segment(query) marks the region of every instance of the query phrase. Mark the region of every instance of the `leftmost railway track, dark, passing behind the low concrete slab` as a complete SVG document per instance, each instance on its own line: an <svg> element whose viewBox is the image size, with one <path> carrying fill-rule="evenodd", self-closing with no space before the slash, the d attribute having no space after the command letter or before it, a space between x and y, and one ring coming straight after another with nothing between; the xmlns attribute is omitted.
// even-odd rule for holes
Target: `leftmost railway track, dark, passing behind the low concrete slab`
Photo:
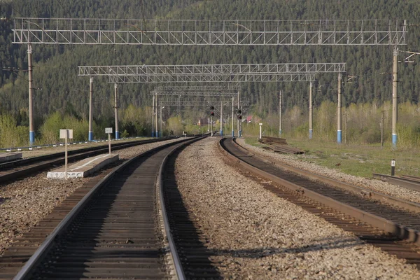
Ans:
<svg viewBox="0 0 420 280"><path fill-rule="evenodd" d="M132 146L144 145L163 141L167 139L150 139L141 141L130 141L128 143L112 144L113 151L123 148L130 148ZM82 148L68 152L69 162L82 160L84 158L92 157L102 153L108 153L108 145L101 145L96 147ZM25 176L30 176L36 172L41 172L50 169L52 166L64 164L64 152L53 153L50 155L41 155L34 158L26 158L22 160L13 160L11 162L3 162L0 164L0 186L3 183L10 183Z"/></svg>

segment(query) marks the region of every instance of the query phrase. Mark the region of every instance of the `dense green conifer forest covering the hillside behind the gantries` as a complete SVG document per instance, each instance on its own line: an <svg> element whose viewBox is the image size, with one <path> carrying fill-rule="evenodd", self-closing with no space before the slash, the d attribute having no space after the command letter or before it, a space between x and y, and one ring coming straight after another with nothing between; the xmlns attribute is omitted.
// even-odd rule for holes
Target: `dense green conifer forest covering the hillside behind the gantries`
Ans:
<svg viewBox="0 0 420 280"><path fill-rule="evenodd" d="M16 125L28 125L27 46L13 45L13 18L120 18L120 19L398 19L409 23L408 45L400 50L419 51L420 5L417 0L0 0L0 111L13 115ZM34 117L36 129L53 113L82 120L88 114L88 78L77 76L78 65L116 64L242 64L286 62L346 62L346 71L357 78L343 78L343 106L384 104L391 101L391 46L158 46L158 45L33 45ZM400 54L399 102L418 104L420 66L405 64ZM420 57L419 57L420 59ZM13 70L13 71L10 71ZM314 106L337 101L337 76L319 75ZM251 101L250 113L260 118L278 109L275 93L283 91L283 110L294 106L307 114L308 83L244 83L241 93ZM120 85L120 108L130 104L151 106L148 94L155 85ZM183 111L196 119L204 108ZM174 116L169 111L169 116ZM168 117L169 117L168 116ZM205 115L204 115L205 116ZM113 85L94 80L94 120L112 122Z"/></svg>

